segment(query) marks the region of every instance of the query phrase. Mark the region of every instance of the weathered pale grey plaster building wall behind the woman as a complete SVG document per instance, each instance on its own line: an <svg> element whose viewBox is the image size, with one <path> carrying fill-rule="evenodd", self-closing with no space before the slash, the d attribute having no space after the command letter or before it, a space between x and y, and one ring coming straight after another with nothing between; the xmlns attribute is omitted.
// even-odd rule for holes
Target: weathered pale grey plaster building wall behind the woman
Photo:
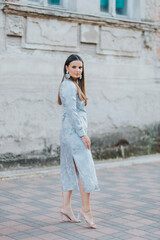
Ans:
<svg viewBox="0 0 160 240"><path fill-rule="evenodd" d="M98 0L92 7L71 3L70 11L0 4L2 160L56 154L57 92L71 53L85 62L90 137L121 133L132 140L135 130L160 123L159 2L139 1L135 19L105 16Z"/></svg>

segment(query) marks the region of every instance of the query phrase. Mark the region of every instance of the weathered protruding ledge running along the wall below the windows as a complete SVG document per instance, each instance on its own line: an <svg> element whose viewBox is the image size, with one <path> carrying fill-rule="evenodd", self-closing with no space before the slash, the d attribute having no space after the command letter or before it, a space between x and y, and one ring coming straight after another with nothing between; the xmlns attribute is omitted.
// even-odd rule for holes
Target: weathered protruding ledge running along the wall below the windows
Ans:
<svg viewBox="0 0 160 240"><path fill-rule="evenodd" d="M64 8L51 8L38 5L25 5L20 3L1 2L0 8L6 14L14 14L19 16L41 16L42 18L58 18L67 19L67 21L75 21L79 23L90 23L100 26L115 25L117 27L135 28L145 31L159 31L160 24L158 22L137 21L133 19L123 19L118 17L104 17L96 14L85 14L83 12L68 11Z"/></svg>

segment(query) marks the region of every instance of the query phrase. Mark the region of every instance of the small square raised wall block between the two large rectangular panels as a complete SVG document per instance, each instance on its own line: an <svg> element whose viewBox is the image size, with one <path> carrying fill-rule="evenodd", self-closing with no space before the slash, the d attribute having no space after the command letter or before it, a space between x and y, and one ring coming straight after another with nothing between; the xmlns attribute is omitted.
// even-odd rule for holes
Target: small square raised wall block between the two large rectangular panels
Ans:
<svg viewBox="0 0 160 240"><path fill-rule="evenodd" d="M89 24L81 24L81 42L98 43L99 27Z"/></svg>

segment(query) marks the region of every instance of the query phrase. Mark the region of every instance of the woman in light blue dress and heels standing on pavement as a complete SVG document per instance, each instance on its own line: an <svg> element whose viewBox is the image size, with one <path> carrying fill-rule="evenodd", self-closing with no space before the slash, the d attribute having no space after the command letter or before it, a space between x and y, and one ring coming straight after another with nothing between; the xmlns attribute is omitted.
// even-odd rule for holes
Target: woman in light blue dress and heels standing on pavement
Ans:
<svg viewBox="0 0 160 240"><path fill-rule="evenodd" d="M99 191L94 162L87 136L84 63L78 55L70 55L64 64L64 77L58 92L58 104L63 106L60 132L60 175L63 206L62 217L80 222L83 217L91 228L96 228L90 207L90 193ZM71 207L73 190L80 190L82 208L78 219Z"/></svg>

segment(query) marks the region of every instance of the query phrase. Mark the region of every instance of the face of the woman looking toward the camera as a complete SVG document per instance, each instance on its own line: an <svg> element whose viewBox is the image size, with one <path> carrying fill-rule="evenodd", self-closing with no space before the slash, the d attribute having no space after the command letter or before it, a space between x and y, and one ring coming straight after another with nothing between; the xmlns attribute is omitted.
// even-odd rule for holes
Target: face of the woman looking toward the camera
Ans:
<svg viewBox="0 0 160 240"><path fill-rule="evenodd" d="M77 80L82 74L82 62L79 60L72 61L69 66L66 66L67 71L69 72L70 76Z"/></svg>

